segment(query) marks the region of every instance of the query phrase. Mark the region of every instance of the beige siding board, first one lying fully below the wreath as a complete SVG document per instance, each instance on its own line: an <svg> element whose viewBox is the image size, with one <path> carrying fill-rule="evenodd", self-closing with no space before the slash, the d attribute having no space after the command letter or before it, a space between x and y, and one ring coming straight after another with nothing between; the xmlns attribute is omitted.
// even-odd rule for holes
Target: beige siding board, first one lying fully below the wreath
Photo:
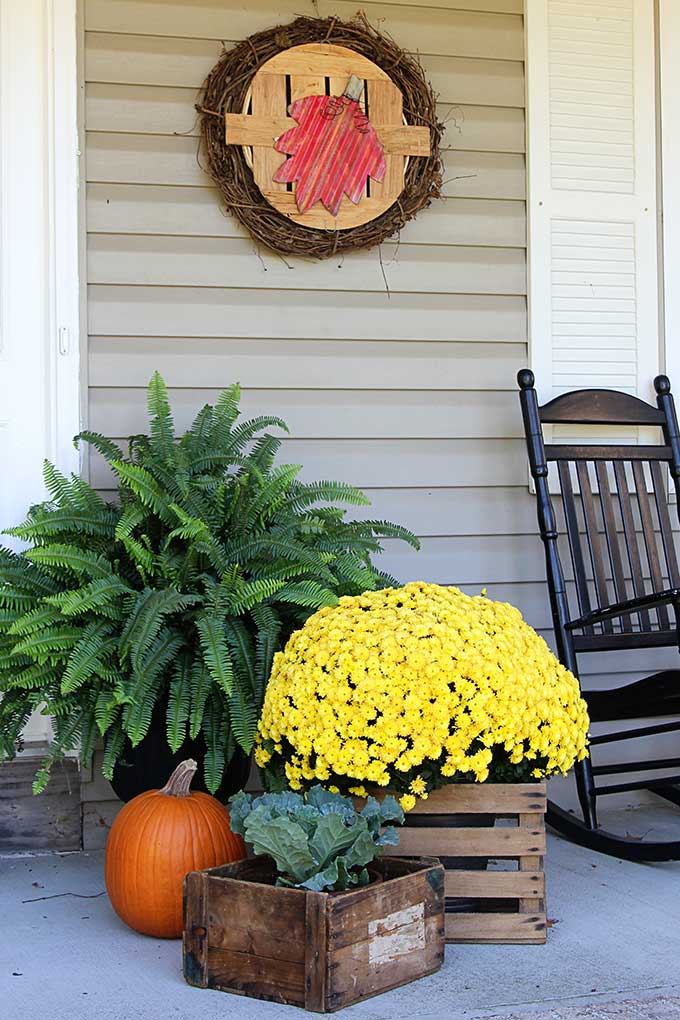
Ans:
<svg viewBox="0 0 680 1020"><path fill-rule="evenodd" d="M91 334L522 342L526 303L492 295L226 291L102 287L89 293Z"/></svg>

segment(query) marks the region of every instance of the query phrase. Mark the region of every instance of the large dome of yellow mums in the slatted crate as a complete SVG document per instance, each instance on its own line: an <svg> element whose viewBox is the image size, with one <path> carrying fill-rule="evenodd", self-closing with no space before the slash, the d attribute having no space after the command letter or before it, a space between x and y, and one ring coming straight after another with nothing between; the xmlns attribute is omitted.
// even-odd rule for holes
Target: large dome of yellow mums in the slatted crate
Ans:
<svg viewBox="0 0 680 1020"><path fill-rule="evenodd" d="M584 758L578 681L519 610L414 582L320 609L274 657L255 757L272 784L531 781Z"/></svg>

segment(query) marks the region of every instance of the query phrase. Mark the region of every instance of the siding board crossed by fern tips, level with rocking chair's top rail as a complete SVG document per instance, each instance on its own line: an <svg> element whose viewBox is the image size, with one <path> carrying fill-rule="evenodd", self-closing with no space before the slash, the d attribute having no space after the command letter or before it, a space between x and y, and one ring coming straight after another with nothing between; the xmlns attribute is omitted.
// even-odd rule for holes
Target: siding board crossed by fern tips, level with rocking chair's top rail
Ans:
<svg viewBox="0 0 680 1020"><path fill-rule="evenodd" d="M170 390L177 431L219 389ZM437 391L245 390L242 414L278 414L297 439L518 439L519 401L512 393ZM106 436L146 431L146 389L92 389L90 427ZM453 522L452 522L453 523Z"/></svg>

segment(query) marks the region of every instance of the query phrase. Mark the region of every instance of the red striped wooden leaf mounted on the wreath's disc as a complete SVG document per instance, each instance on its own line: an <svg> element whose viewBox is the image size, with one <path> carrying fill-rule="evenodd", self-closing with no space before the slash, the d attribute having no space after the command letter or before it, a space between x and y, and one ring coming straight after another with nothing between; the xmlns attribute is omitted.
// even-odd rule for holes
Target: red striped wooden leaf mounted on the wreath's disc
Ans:
<svg viewBox="0 0 680 1020"><path fill-rule="evenodd" d="M382 181L382 143L359 103L347 96L305 96L289 112L299 126L276 141L276 150L291 158L278 168L274 181L296 182L301 212L323 202L335 216L343 195L357 205L366 194L369 176Z"/></svg>

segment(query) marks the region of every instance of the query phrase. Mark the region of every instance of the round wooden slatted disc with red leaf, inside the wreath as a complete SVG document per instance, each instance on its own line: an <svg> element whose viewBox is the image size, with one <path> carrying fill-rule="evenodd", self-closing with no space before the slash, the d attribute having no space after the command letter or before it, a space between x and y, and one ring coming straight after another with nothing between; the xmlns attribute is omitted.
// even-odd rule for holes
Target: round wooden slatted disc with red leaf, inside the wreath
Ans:
<svg viewBox="0 0 680 1020"><path fill-rule="evenodd" d="M338 96L348 79L356 91ZM322 94L326 81L332 96ZM364 92L368 117L357 102ZM407 158L430 152L429 128L406 123L402 93L386 71L330 43L292 46L265 61L242 112L227 113L224 129L227 145L251 152L255 184L270 205L323 231L382 215L404 189Z"/></svg>

